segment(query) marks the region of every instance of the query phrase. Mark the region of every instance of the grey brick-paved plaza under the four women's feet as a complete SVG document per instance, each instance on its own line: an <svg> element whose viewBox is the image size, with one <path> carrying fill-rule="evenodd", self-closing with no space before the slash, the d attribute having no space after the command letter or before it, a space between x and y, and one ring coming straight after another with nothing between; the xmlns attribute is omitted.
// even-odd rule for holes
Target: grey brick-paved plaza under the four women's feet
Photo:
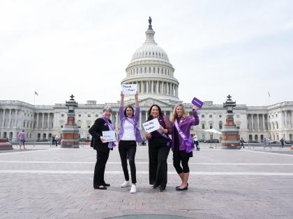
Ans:
<svg viewBox="0 0 293 219"><path fill-rule="evenodd" d="M110 152L107 190L94 190L96 153L87 147L29 146L0 153L0 218L110 218L158 214L188 218L293 218L293 154L289 149L202 147L190 159L188 190L168 159L164 193L148 184L148 150L137 149L138 192L120 188L117 149ZM142 217L143 218L143 217Z"/></svg>

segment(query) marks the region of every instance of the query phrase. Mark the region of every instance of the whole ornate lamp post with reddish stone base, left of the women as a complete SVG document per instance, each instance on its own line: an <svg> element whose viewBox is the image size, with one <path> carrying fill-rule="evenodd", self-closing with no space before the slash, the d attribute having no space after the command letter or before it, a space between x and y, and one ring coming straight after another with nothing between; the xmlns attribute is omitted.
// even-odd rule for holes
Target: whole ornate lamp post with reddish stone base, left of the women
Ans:
<svg viewBox="0 0 293 219"><path fill-rule="evenodd" d="M80 136L78 134L78 127L75 122L75 108L77 107L77 102L73 99L73 95L70 96L71 99L66 102L68 106L67 122L62 129L62 140L61 147L63 148L79 148L80 147Z"/></svg>

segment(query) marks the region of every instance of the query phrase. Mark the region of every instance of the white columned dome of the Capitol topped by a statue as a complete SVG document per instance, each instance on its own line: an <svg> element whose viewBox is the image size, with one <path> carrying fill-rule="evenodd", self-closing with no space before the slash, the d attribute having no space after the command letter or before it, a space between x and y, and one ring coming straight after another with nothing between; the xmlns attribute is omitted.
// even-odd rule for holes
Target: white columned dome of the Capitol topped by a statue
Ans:
<svg viewBox="0 0 293 219"><path fill-rule="evenodd" d="M174 78L175 70L167 53L154 40L155 33L149 17L146 41L133 54L121 84L137 84L140 99L151 97L174 104L180 102L179 82ZM133 101L133 96L126 95L126 101Z"/></svg>

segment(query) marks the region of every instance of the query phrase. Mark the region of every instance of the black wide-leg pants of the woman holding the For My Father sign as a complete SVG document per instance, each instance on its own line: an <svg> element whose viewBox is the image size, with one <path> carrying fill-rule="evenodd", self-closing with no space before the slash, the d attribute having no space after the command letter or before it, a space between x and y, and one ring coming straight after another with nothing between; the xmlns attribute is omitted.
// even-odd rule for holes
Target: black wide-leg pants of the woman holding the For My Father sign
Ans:
<svg viewBox="0 0 293 219"><path fill-rule="evenodd" d="M170 147L165 138L149 140L149 184L167 185L167 157Z"/></svg>

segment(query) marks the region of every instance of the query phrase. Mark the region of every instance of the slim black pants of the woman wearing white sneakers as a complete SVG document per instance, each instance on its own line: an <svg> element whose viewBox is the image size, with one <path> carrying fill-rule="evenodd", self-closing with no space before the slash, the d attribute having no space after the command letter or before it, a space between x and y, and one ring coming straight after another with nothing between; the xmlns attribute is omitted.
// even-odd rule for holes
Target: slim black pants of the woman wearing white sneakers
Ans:
<svg viewBox="0 0 293 219"><path fill-rule="evenodd" d="M135 153L136 153L136 142L135 140L120 140L119 141L119 154L121 158L121 165L125 180L129 180L128 168L127 168L127 155L129 159L131 181L136 184L136 168L135 168Z"/></svg>

